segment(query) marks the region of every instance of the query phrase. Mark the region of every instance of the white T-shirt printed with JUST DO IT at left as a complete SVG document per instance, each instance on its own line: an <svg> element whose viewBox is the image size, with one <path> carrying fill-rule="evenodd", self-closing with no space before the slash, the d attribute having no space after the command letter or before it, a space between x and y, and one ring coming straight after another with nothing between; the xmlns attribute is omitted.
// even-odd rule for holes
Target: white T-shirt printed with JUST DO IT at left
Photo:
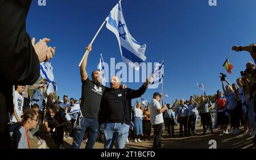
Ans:
<svg viewBox="0 0 256 160"><path fill-rule="evenodd" d="M20 116L23 115L23 102L24 102L23 96L20 95L17 91L15 91L14 92L14 98L13 98L13 104L14 104L14 108L15 108L16 113L17 113L20 120L21 120ZM13 115L13 119L11 121L17 122L14 115Z"/></svg>

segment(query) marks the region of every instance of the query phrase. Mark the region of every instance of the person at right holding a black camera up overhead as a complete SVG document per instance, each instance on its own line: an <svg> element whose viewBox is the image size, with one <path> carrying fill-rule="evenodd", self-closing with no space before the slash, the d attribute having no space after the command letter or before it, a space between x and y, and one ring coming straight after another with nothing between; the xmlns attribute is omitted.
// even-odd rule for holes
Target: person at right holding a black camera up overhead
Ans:
<svg viewBox="0 0 256 160"><path fill-rule="evenodd" d="M226 87L224 87L224 82L228 83ZM234 88L236 89L236 86L234 86ZM226 79L222 81L222 89L226 97L226 106L228 106L228 109L229 109L230 128L233 127L232 134L238 134L240 133L240 130L239 130L240 121L239 121L239 108L238 108L237 100L235 98L235 92L233 90L233 87L231 87L229 81L227 81Z"/></svg>

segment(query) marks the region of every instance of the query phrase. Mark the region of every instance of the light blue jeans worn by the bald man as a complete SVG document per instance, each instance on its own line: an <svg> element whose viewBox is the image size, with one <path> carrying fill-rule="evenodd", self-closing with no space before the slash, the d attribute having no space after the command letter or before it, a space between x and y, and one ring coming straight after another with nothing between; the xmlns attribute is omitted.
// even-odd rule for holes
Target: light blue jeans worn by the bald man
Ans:
<svg viewBox="0 0 256 160"><path fill-rule="evenodd" d="M105 123L104 137L105 149L112 149L114 144L116 149L124 149L129 134L130 126L122 123Z"/></svg>

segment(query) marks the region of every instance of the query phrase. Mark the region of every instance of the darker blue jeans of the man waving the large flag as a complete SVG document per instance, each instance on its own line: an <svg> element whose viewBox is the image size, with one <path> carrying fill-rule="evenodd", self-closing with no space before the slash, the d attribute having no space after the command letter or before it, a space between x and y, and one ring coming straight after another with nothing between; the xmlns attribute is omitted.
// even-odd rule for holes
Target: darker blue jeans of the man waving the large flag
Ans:
<svg viewBox="0 0 256 160"><path fill-rule="evenodd" d="M79 117L80 115L77 116L76 125L79 124ZM80 145L82 140L84 139L84 133L86 128L89 128L89 138L85 148L93 149L93 146L98 136L98 119L91 119L88 117L84 117L84 119L82 119L80 123L81 123L81 128L79 129L76 128L74 132L74 136L73 136L74 140L72 144L73 149L80 149Z"/></svg>

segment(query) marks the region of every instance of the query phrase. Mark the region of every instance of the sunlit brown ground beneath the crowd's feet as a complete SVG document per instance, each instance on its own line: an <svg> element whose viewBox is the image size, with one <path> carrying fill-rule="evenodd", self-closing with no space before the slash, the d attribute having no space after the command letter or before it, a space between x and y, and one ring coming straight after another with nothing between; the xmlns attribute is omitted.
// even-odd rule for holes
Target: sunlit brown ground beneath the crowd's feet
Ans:
<svg viewBox="0 0 256 160"><path fill-rule="evenodd" d="M199 125L199 124L198 124ZM152 129L153 131L153 129ZM162 142L164 148L166 149L208 149L210 147L209 141L215 140L217 142L217 148L255 148L252 140L253 137L246 136L245 133L237 134L236 136L232 134L222 134L220 130L214 129L214 133L210 134L210 131L203 135L203 128L197 127L197 135L191 137L182 137L179 136L179 126L175 127L175 136L174 138L170 138L167 135L165 129L163 129ZM152 133L153 134L153 133ZM152 135L151 134L151 135ZM39 132L39 137L35 137L33 141L31 141L32 148L40 148L39 139L46 141L46 148L57 148L54 141L51 137L46 136L44 132ZM67 138L64 140L64 148L72 148L72 138ZM151 149L153 141L142 141L135 143L133 140L130 140L128 144L126 144L126 149ZM85 141L82 142L81 148L85 148ZM104 148L103 142L97 141L94 148L102 149Z"/></svg>

